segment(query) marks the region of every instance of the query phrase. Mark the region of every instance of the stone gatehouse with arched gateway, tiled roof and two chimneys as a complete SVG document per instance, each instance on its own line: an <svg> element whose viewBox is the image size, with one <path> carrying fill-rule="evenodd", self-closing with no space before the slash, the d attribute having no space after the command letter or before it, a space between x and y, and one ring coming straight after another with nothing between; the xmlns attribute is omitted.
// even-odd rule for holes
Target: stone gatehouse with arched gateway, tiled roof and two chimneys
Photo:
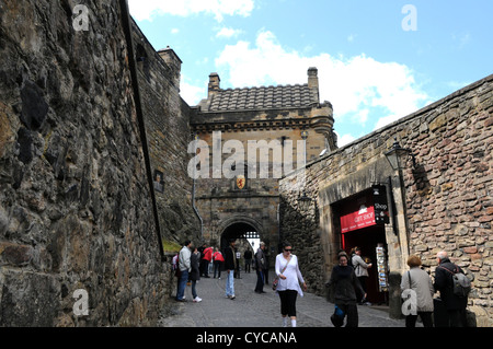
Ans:
<svg viewBox="0 0 493 349"><path fill-rule="evenodd" d="M277 252L278 179L335 149L333 123L331 104L319 101L317 68L305 84L227 90L211 73L191 118L202 141L195 200L204 240L223 246L250 233Z"/></svg>

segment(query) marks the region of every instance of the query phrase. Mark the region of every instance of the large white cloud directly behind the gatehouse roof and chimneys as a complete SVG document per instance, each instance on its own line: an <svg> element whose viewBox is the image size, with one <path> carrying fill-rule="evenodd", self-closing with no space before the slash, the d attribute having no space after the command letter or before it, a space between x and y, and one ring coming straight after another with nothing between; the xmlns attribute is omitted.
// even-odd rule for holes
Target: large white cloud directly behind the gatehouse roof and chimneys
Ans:
<svg viewBox="0 0 493 349"><path fill-rule="evenodd" d="M216 66L222 80L228 73L234 88L306 83L308 68L317 67L321 101L332 103L336 120L356 124L367 123L374 112L371 121L380 118L376 123L380 127L409 115L429 100L414 81L413 71L404 65L379 62L365 55L306 57L286 50L267 31L259 33L253 46L244 40L226 46ZM377 117L375 110L380 113Z"/></svg>

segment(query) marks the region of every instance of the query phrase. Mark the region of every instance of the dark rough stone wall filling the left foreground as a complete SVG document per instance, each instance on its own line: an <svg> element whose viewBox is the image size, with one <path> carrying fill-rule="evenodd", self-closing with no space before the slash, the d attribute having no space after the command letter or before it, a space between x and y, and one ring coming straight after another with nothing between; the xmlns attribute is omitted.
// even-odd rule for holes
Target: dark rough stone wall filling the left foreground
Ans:
<svg viewBox="0 0 493 349"><path fill-rule="evenodd" d="M153 325L163 302L118 2L0 2L0 325ZM73 314L73 292L89 315Z"/></svg>

